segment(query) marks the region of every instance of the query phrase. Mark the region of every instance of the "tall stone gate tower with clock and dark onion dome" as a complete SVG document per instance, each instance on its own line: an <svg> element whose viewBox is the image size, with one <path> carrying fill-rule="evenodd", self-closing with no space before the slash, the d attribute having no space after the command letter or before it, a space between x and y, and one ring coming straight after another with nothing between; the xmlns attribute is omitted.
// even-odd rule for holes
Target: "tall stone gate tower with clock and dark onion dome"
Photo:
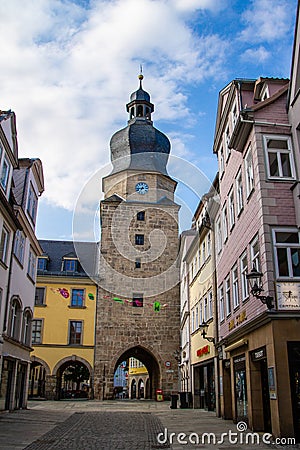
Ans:
<svg viewBox="0 0 300 450"><path fill-rule="evenodd" d="M146 396L178 390L180 345L176 181L167 173L169 139L154 128L154 105L131 94L126 128L110 142L113 170L103 179L94 391L113 395L116 368L130 357L149 372Z"/></svg>

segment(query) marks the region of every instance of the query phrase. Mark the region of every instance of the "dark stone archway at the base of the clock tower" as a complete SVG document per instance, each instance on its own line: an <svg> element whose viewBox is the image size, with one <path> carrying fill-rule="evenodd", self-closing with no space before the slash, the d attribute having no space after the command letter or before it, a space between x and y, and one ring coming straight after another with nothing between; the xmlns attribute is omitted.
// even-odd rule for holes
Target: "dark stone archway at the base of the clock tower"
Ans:
<svg viewBox="0 0 300 450"><path fill-rule="evenodd" d="M148 395L147 398L155 399L155 390L160 388L161 386L161 373L160 373L160 366L158 363L158 358L153 354L152 351L149 349L146 349L145 347L141 345L136 345L134 347L128 348L127 350L123 351L122 354L120 354L117 358L114 359L112 364L110 366L107 365L105 367L104 371L104 392L105 395L102 396L102 398L112 398L112 393L110 392L110 385L111 385L111 373L112 373L112 379L113 374L116 371L117 367L122 361L129 360L129 358L136 358L143 365L146 367L148 374L149 374L149 384L148 384ZM112 369L112 370L111 370ZM131 386L129 386L129 389ZM136 389L138 389L138 384L136 381ZM138 394L138 391L136 391Z"/></svg>

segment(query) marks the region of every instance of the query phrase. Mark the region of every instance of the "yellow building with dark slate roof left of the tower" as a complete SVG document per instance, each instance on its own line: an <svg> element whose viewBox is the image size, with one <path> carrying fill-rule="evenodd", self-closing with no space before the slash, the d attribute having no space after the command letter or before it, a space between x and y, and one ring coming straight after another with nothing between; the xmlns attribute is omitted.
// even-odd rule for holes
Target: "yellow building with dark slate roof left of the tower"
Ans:
<svg viewBox="0 0 300 450"><path fill-rule="evenodd" d="M78 259L73 242L41 240L40 245L29 396L92 397L97 296L89 277L93 274ZM80 245L95 262L96 244Z"/></svg>

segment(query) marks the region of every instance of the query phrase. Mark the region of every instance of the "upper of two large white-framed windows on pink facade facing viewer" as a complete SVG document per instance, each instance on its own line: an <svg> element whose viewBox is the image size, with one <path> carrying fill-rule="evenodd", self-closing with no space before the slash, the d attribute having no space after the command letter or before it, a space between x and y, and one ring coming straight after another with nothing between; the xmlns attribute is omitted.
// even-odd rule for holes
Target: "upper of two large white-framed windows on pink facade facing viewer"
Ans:
<svg viewBox="0 0 300 450"><path fill-rule="evenodd" d="M295 178L291 139L287 136L264 136L268 178Z"/></svg>

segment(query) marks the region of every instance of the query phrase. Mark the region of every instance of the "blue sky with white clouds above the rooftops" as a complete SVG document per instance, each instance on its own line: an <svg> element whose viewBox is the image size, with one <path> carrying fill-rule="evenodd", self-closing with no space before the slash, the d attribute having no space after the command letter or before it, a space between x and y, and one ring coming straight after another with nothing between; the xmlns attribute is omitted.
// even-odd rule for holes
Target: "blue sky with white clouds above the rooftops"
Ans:
<svg viewBox="0 0 300 450"><path fill-rule="evenodd" d="M43 162L38 237L72 238L77 199L107 168L110 137L127 124L140 64L154 125L173 155L212 180L218 93L234 78L289 77L296 7L296 0L1 2L0 108L17 115L19 156ZM183 194L191 214L199 195ZM189 222L186 214L183 228Z"/></svg>

